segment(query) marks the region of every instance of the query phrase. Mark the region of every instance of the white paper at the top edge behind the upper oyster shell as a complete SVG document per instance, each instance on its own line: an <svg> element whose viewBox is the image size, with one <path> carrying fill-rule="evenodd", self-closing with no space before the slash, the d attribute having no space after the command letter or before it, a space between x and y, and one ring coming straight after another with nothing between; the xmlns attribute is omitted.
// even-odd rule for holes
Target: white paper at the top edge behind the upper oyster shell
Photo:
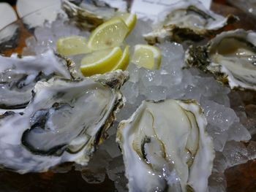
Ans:
<svg viewBox="0 0 256 192"><path fill-rule="evenodd" d="M135 13L138 18L151 19L157 18L160 12L171 4L175 4L180 0L133 0L131 12ZM211 0L200 0L203 5L210 9Z"/></svg>

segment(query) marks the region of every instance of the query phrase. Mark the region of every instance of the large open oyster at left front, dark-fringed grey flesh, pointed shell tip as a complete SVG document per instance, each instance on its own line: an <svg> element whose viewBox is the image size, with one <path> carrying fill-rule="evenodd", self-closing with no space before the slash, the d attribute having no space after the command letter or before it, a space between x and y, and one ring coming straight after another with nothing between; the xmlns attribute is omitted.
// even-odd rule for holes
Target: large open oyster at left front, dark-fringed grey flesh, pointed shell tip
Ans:
<svg viewBox="0 0 256 192"><path fill-rule="evenodd" d="M80 81L37 82L22 114L0 116L1 166L26 173L64 162L86 165L123 106L119 88L126 79L119 70Z"/></svg>

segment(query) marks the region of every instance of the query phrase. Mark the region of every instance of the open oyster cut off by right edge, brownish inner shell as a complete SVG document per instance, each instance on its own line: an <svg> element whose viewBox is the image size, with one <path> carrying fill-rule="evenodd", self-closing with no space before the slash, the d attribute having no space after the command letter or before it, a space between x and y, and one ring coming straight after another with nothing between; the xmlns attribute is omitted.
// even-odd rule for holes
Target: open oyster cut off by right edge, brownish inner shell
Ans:
<svg viewBox="0 0 256 192"><path fill-rule="evenodd" d="M186 62L208 71L230 88L256 90L256 33L227 31L205 46L189 47Z"/></svg>

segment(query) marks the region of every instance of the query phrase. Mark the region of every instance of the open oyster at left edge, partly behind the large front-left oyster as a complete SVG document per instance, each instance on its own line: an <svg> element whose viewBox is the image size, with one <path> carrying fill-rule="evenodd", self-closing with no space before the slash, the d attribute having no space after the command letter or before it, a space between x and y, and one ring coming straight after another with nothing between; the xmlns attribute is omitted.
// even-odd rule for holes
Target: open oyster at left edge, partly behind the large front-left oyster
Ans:
<svg viewBox="0 0 256 192"><path fill-rule="evenodd" d="M53 75L70 79L66 61L52 50L38 56L0 56L0 111L23 109L29 103L34 85Z"/></svg>

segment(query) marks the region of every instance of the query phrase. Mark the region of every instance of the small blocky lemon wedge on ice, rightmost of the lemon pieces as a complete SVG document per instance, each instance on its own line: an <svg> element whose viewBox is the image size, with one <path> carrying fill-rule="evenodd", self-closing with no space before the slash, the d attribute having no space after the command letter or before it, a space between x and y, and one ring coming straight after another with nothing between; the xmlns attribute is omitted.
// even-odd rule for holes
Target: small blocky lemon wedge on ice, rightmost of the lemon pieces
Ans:
<svg viewBox="0 0 256 192"><path fill-rule="evenodd" d="M159 69L161 65L161 51L151 45L135 45L135 52L132 56L132 63L146 69Z"/></svg>

